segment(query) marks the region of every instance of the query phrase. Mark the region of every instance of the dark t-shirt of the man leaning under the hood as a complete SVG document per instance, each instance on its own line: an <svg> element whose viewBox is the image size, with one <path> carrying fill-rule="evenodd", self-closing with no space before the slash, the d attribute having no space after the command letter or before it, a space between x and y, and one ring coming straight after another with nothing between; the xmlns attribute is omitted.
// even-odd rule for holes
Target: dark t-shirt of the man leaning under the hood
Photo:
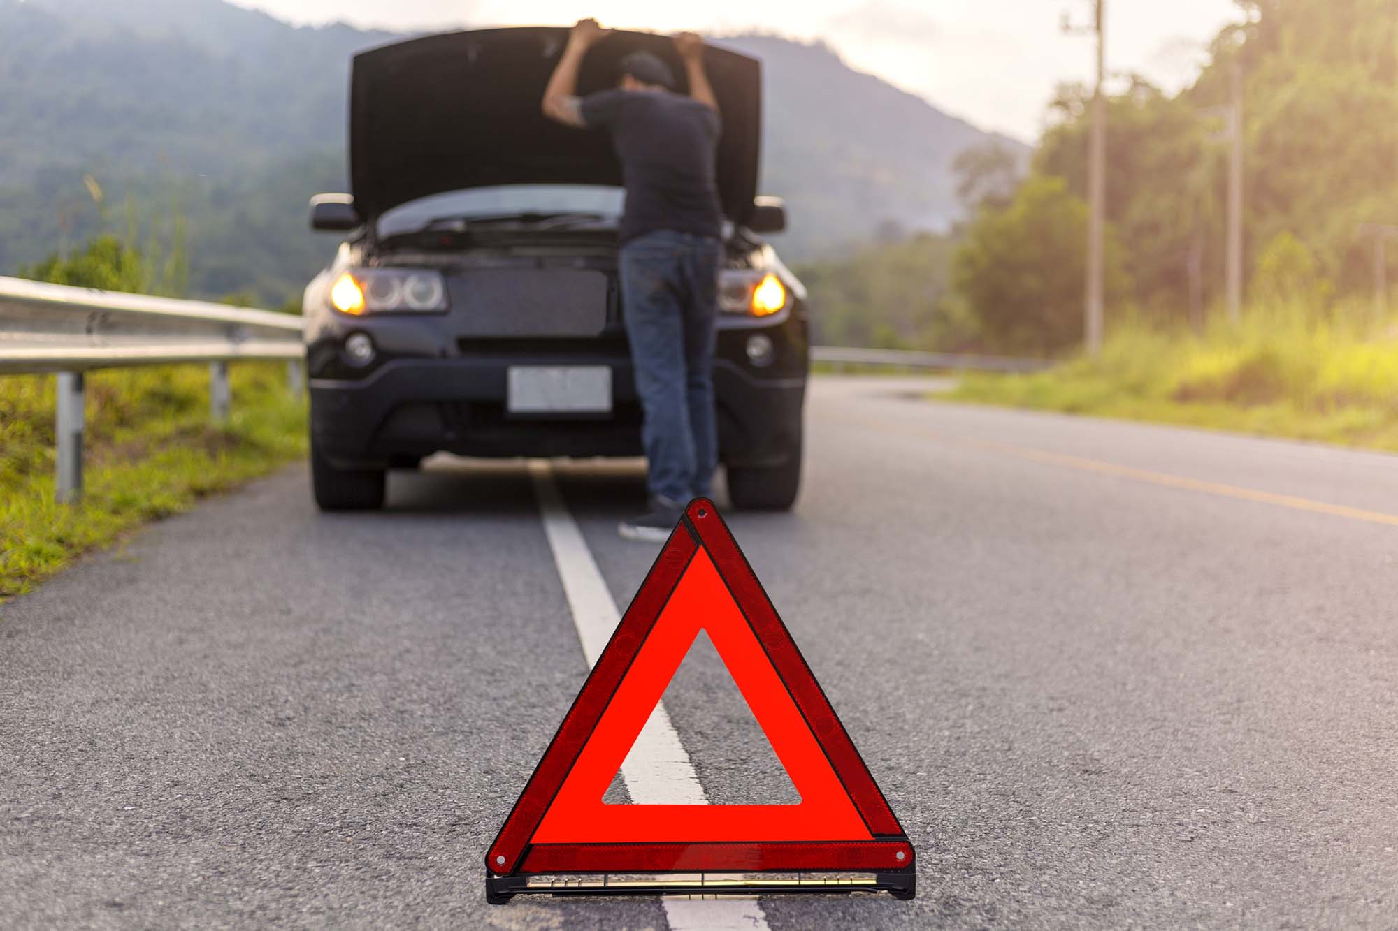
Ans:
<svg viewBox="0 0 1398 931"><path fill-rule="evenodd" d="M587 126L611 131L621 159L621 242L656 229L719 236L720 124L713 108L667 91L600 91L584 96L582 108Z"/></svg>

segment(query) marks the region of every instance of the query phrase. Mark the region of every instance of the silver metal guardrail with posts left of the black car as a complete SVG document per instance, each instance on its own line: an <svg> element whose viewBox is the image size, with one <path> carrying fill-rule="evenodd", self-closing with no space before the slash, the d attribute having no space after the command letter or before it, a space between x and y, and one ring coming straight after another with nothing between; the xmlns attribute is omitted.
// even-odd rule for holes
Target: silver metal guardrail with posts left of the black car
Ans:
<svg viewBox="0 0 1398 931"><path fill-rule="evenodd" d="M0 277L0 375L57 372L57 488L60 502L82 493L82 373L133 365L208 362L210 417L228 419L228 363L287 359L298 394L301 319L204 301L71 288Z"/></svg>

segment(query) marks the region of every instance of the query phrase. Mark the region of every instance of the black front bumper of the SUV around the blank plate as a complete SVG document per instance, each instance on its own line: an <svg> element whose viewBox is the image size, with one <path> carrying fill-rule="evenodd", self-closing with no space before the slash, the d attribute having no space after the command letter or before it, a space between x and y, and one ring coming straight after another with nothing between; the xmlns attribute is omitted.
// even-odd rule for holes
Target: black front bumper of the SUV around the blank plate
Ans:
<svg viewBox="0 0 1398 931"><path fill-rule="evenodd" d="M612 411L593 417L519 417L505 410L512 365L607 365ZM763 376L714 361L720 459L772 467L800 454L805 375ZM804 368L804 366L802 366ZM316 450L340 468L380 468L403 457L640 456L642 412L629 358L534 355L397 358L362 379L310 380Z"/></svg>

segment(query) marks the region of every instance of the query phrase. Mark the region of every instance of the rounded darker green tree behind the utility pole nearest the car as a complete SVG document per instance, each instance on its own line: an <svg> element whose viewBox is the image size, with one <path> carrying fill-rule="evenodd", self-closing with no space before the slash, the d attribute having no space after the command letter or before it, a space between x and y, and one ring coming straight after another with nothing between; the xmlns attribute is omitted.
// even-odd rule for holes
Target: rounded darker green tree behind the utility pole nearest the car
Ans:
<svg viewBox="0 0 1398 931"><path fill-rule="evenodd" d="M987 348L1048 354L1082 340L1088 205L1061 178L1035 176L1004 210L983 208L952 259L952 282L980 320ZM1106 296L1130 281L1109 228Z"/></svg>

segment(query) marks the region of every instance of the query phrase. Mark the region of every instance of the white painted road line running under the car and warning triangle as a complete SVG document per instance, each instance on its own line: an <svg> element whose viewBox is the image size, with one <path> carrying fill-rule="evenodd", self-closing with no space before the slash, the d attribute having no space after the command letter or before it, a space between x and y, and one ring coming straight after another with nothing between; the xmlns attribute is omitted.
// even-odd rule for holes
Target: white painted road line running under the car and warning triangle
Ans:
<svg viewBox="0 0 1398 931"><path fill-rule="evenodd" d="M568 513L563 496L554 481L554 471L547 460L530 460L530 475L534 479L534 495L538 498L540 517L544 534L554 552L554 565L563 583L563 596L573 612L577 637L583 642L587 664L597 663L607 640L621 621L617 602L603 573L597 569L587 542L573 516ZM706 805L703 786L689 762L689 753L679 742L679 734L670 723L664 703L656 706L646 727L636 738L635 746L626 755L621 767L622 781L636 805ZM674 931L699 931L702 928L748 928L762 931L768 918L756 899L721 897L700 899L689 896L665 896L665 917Z"/></svg>

